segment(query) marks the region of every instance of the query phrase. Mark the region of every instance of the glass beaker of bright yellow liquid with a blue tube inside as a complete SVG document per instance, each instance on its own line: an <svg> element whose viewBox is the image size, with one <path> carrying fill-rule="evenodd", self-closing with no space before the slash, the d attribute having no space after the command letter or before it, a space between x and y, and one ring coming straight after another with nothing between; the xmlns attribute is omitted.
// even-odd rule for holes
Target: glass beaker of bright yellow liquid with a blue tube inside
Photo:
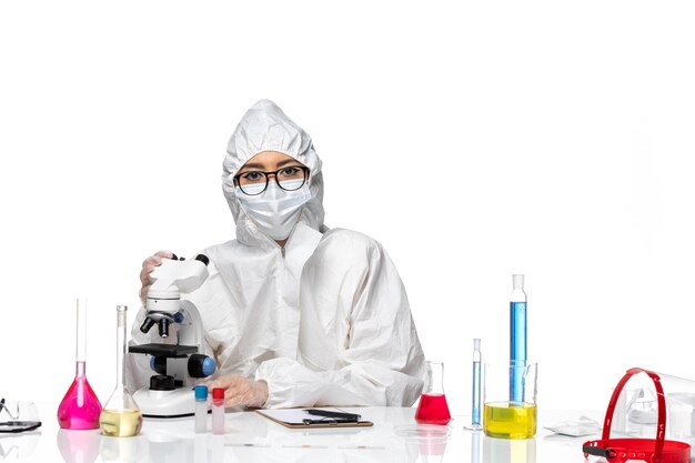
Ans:
<svg viewBox="0 0 695 463"><path fill-rule="evenodd" d="M485 363L483 396L483 430L490 437L528 439L536 433L537 365L524 362ZM510 395L510 375L518 374L523 394L514 400Z"/></svg>

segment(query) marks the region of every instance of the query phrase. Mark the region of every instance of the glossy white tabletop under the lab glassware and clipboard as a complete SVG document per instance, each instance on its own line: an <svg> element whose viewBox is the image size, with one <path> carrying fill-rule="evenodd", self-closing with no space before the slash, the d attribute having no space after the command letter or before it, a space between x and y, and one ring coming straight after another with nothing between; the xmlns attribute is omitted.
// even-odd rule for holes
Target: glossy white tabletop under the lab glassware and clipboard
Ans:
<svg viewBox="0 0 695 463"><path fill-rule="evenodd" d="M254 412L241 412L225 414L222 436L195 434L193 417L188 417L145 419L139 436L118 439L104 437L99 430L60 430L54 407L38 405L43 425L31 433L0 434L0 462L578 463L585 461L582 443L597 439L552 434L543 429L544 420L575 420L580 413L541 411L536 436L528 440L491 439L466 431L466 416L454 416L449 439L412 440L394 431L399 425L415 424L415 410L401 407L350 409L374 422L373 427L289 430Z"/></svg>

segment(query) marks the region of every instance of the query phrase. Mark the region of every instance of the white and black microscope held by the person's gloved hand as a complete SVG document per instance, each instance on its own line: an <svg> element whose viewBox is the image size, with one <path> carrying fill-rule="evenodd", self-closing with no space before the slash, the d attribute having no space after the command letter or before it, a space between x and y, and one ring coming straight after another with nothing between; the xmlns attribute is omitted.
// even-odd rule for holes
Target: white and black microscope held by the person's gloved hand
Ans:
<svg viewBox="0 0 695 463"><path fill-rule="evenodd" d="M181 299L200 288L208 278L207 255L198 254L187 261L173 255L150 274L153 281L148 291L147 315L140 331L148 333L154 325L159 336L167 341L170 328L175 329L177 343L131 345L129 352L148 354L154 375L150 387L140 389L133 399L143 416L179 417L193 415L193 387L197 379L215 371L214 360L202 354L203 323L191 301Z"/></svg>

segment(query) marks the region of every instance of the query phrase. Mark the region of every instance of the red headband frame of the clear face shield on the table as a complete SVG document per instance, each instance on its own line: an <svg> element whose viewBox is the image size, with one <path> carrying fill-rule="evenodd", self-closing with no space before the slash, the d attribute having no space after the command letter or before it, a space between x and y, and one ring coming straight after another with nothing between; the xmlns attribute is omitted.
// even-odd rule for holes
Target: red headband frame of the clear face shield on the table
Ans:
<svg viewBox="0 0 695 463"><path fill-rule="evenodd" d="M658 403L658 415L656 423L656 439L611 439L611 423L615 404L621 395L621 391L627 380L634 374L646 373L656 387L656 400ZM623 463L627 460L643 460L648 463L689 463L691 445L685 442L666 441L666 400L658 375L652 371L643 369L629 369L613 391L613 396L608 403L606 417L603 423L603 435L597 441L587 441L582 447L584 457L588 455L603 456L610 463Z"/></svg>

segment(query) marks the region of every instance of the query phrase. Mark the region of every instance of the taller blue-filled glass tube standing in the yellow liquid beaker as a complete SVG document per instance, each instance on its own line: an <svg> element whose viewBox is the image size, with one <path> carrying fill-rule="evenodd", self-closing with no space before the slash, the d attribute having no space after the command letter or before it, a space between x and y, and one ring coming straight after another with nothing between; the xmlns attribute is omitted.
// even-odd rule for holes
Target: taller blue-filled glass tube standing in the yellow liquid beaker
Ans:
<svg viewBox="0 0 695 463"><path fill-rule="evenodd" d="M512 275L510 296L510 362L516 368L510 371L510 400L523 402L523 372L526 364L526 293L524 275Z"/></svg>

